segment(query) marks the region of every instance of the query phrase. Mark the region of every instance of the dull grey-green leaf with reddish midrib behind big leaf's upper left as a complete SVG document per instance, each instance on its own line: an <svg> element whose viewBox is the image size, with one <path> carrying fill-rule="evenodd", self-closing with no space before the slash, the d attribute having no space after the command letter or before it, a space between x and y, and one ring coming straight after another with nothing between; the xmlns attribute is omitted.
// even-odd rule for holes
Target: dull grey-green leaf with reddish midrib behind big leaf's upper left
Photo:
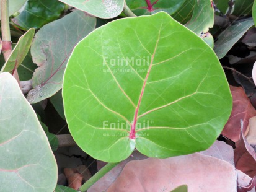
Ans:
<svg viewBox="0 0 256 192"><path fill-rule="evenodd" d="M95 29L96 19L82 11L43 26L35 35L31 55L38 69L27 99L37 103L51 97L62 87L64 69L74 46Z"/></svg>

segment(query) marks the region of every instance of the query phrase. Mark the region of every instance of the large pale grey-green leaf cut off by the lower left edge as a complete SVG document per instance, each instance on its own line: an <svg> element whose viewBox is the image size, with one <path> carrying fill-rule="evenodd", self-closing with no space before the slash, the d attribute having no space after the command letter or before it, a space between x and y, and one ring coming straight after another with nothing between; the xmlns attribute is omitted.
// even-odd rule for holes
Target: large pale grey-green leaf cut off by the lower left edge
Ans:
<svg viewBox="0 0 256 192"><path fill-rule="evenodd" d="M33 108L11 74L0 74L1 191L53 191L57 165Z"/></svg>

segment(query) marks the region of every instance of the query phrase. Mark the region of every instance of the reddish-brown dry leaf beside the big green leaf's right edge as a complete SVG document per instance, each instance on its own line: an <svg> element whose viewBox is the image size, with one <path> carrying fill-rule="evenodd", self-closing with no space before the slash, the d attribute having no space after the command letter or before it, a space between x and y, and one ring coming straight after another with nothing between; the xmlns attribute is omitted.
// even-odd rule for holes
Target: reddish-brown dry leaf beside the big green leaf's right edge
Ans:
<svg viewBox="0 0 256 192"><path fill-rule="evenodd" d="M244 127L247 128L249 119L252 116L256 116L256 110L250 103L242 87L234 87L232 85L229 85L229 87L233 97L233 108L231 116L221 134L236 142L239 139L241 130L240 120L243 120ZM247 129L244 129L243 133L246 135Z"/></svg>

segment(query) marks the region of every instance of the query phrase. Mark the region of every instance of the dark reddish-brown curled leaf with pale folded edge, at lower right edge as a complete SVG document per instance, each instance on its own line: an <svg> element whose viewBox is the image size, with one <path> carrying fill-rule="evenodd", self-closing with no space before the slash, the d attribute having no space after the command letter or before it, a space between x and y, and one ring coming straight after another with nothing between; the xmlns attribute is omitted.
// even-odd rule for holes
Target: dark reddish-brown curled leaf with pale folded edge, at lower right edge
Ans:
<svg viewBox="0 0 256 192"><path fill-rule="evenodd" d="M236 149L234 150L236 168L250 177L254 177L256 175L256 152L245 139L242 129L240 138L236 142Z"/></svg>

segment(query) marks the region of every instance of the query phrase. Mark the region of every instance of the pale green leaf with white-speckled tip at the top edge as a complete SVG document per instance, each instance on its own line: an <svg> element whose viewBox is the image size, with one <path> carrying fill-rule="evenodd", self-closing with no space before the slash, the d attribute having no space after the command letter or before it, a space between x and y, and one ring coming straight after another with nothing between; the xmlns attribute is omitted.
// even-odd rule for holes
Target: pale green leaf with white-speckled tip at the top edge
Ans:
<svg viewBox="0 0 256 192"><path fill-rule="evenodd" d="M59 0L103 19L117 17L123 11L125 0Z"/></svg>

